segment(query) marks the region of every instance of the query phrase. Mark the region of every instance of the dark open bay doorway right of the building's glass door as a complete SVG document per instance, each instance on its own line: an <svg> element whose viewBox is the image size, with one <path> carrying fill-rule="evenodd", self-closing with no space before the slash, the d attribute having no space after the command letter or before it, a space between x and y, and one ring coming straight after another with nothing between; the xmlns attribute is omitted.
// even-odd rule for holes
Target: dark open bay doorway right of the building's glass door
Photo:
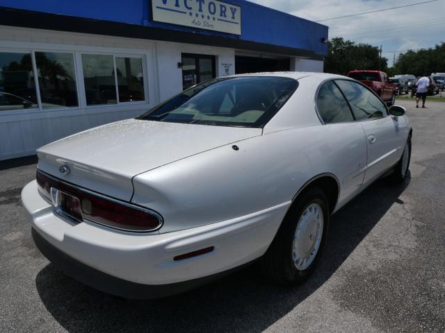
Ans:
<svg viewBox="0 0 445 333"><path fill-rule="evenodd" d="M271 59L261 57L235 56L236 74L258 73L261 71L290 71L289 58Z"/></svg>

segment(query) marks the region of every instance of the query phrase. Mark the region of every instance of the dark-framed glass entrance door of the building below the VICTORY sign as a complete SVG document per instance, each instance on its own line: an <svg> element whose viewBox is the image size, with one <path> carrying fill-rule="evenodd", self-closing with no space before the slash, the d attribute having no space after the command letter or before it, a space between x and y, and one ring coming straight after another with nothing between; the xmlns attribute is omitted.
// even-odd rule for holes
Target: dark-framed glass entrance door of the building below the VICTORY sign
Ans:
<svg viewBox="0 0 445 333"><path fill-rule="evenodd" d="M216 77L215 57L182 53L182 89Z"/></svg>

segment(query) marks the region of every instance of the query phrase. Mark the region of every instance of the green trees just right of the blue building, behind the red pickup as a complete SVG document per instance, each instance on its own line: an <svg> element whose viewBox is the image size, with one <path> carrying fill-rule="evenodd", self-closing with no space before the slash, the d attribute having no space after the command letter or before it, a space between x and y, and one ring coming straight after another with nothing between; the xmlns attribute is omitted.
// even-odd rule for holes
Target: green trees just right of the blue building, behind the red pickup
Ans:
<svg viewBox="0 0 445 333"><path fill-rule="evenodd" d="M334 37L328 42L328 51L325 58L325 72L346 75L353 69L386 71L387 58L379 57L378 46L370 44L356 44L343 37Z"/></svg>

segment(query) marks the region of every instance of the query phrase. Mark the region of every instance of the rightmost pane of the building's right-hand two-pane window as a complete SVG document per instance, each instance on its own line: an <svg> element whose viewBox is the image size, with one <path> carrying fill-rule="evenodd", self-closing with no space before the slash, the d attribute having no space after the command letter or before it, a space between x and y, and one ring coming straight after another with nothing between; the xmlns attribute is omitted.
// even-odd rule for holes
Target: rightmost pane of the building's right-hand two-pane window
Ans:
<svg viewBox="0 0 445 333"><path fill-rule="evenodd" d="M141 58L116 57L119 101L145 101L144 76Z"/></svg>

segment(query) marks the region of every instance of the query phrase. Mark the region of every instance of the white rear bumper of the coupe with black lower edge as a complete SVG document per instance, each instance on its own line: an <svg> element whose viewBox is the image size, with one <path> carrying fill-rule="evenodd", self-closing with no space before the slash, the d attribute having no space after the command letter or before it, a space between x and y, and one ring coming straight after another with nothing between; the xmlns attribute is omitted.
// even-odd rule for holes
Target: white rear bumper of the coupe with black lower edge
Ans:
<svg viewBox="0 0 445 333"><path fill-rule="evenodd" d="M135 234L64 219L38 193L35 181L24 187L22 202L35 244L51 262L91 287L127 298L191 289L261 257L290 204L177 232ZM174 259L210 246L210 253Z"/></svg>

